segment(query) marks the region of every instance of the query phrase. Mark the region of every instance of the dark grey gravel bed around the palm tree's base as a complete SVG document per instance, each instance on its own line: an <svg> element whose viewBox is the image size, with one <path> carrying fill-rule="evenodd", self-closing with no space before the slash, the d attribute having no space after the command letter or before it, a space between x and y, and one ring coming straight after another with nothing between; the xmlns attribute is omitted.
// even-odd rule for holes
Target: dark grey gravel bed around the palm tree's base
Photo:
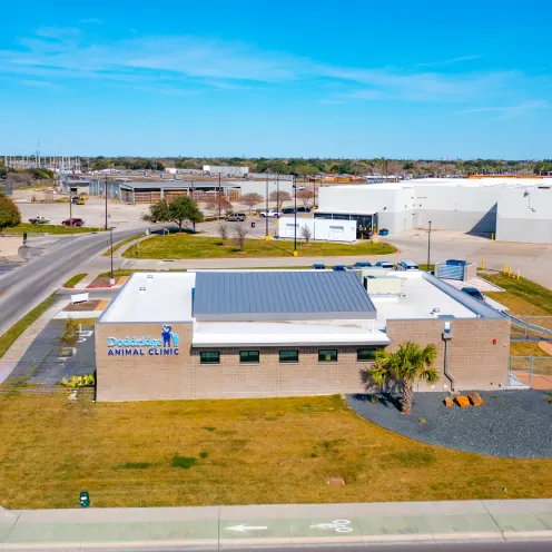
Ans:
<svg viewBox="0 0 552 552"><path fill-rule="evenodd" d="M552 404L542 391L481 392L482 406L447 408L446 393L416 393L411 415L388 395L347 395L357 414L386 430L457 451L512 459L552 457ZM424 418L426 423L420 423Z"/></svg>

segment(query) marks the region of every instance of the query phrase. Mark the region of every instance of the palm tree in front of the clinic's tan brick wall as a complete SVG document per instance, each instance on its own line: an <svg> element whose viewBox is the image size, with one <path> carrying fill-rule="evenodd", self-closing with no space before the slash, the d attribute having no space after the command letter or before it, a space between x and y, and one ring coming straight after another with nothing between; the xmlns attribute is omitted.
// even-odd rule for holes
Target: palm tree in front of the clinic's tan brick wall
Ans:
<svg viewBox="0 0 552 552"><path fill-rule="evenodd" d="M414 395L415 379L434 383L438 374L433 367L437 349L430 344L424 348L413 342L398 346L394 353L379 349L376 353L375 366L369 371L371 379L378 386L396 382L402 388L401 412L410 414Z"/></svg>

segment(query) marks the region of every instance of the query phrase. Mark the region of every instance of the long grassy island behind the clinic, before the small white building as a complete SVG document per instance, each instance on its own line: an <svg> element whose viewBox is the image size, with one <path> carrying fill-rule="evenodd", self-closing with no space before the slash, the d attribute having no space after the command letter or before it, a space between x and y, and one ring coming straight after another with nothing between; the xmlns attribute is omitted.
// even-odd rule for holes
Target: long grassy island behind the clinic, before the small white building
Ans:
<svg viewBox="0 0 552 552"><path fill-rule="evenodd" d="M270 239L247 239L244 252L233 244L230 239L223 245L220 238L191 236L187 234L155 236L140 241L139 252L125 252L124 257L132 258L250 258L250 257L289 257L293 256L293 241ZM131 248L130 248L131 249ZM299 255L327 256L327 255L386 255L396 249L385 243L373 244L359 241L358 244L328 244L310 243L298 246Z"/></svg>

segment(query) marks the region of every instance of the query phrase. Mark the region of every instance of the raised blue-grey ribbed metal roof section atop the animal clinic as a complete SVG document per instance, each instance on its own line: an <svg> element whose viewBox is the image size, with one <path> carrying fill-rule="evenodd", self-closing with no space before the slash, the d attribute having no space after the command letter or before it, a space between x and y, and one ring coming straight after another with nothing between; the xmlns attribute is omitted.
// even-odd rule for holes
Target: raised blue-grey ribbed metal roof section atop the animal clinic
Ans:
<svg viewBox="0 0 552 552"><path fill-rule="evenodd" d="M376 309L353 273L197 273L194 316L204 322L372 319Z"/></svg>

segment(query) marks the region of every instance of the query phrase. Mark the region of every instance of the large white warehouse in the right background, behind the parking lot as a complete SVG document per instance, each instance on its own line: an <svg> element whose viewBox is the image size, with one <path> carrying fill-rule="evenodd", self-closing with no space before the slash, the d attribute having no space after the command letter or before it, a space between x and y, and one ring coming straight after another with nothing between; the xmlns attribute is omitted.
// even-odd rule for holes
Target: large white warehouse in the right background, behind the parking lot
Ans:
<svg viewBox="0 0 552 552"><path fill-rule="evenodd" d="M504 241L552 243L550 178L421 178L326 186L316 218L355 220L357 234L411 228L494 234Z"/></svg>

